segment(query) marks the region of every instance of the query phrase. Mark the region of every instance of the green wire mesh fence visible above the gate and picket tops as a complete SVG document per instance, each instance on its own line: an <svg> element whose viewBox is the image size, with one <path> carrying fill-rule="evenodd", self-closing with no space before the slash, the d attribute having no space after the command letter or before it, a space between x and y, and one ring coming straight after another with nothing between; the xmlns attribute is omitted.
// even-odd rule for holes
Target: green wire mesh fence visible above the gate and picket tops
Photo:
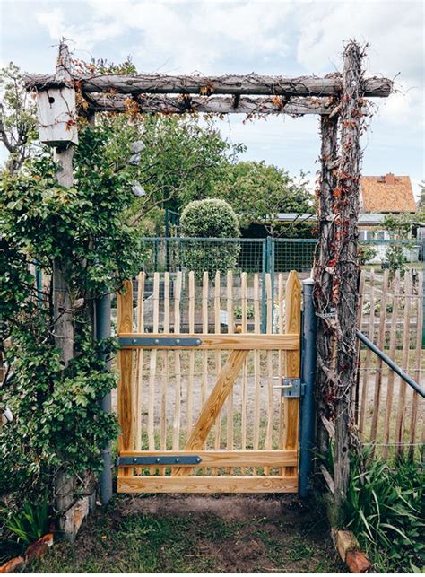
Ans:
<svg viewBox="0 0 425 577"><path fill-rule="evenodd" d="M144 238L145 272L218 270L247 273L308 273L313 267L315 239ZM365 267L423 269L425 241L360 240Z"/></svg>

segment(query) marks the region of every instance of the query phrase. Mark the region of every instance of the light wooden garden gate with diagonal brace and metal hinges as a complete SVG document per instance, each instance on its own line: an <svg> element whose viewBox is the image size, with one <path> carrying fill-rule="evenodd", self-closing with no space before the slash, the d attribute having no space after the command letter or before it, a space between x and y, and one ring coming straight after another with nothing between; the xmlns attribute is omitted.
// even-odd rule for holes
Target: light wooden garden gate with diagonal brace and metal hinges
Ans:
<svg viewBox="0 0 425 577"><path fill-rule="evenodd" d="M204 273L202 291L195 291L194 273L187 275L188 287L185 278L181 272L172 276L155 273L152 293L144 298L148 281L142 273L135 310L131 281L117 295L117 410L121 427L117 492L296 493L301 317L297 273L291 271L287 279L280 275L277 299L273 299L270 275L250 275L253 285L248 286L247 273L234 283L229 271L227 317L221 310L220 273L215 275L213 286ZM273 307L267 307L266 334L260 332L260 284L261 288L265 284L268 305L274 301L274 310L280 310L273 326ZM254 323L252 332L247 332L250 294ZM199 310L196 299L201 303ZM213 332L209 331L209 302L214 305ZM235 310L239 314L235 302L240 302L240 325L234 321ZM149 326L148 312L152 313ZM199 332L195 330L196 313L202 319ZM221 332L223 317L227 319L226 332ZM186 380L182 378L184 367ZM196 371L201 371L200 379L195 377ZM240 414L233 398L238 378ZM167 405L170 387L172 415ZM262 396L265 408L261 407Z"/></svg>

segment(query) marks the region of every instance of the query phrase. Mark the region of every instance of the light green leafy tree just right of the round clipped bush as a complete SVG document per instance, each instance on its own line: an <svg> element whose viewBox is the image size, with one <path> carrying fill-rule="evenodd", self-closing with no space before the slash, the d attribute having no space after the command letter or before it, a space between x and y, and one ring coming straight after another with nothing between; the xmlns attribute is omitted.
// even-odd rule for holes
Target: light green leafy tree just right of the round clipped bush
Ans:
<svg viewBox="0 0 425 577"><path fill-rule="evenodd" d="M230 163L225 178L216 183L214 196L233 207L242 227L251 223L262 224L272 236L289 235L302 219L292 223L277 221L279 213L313 213L312 197L305 174L299 181L286 170L262 162Z"/></svg>

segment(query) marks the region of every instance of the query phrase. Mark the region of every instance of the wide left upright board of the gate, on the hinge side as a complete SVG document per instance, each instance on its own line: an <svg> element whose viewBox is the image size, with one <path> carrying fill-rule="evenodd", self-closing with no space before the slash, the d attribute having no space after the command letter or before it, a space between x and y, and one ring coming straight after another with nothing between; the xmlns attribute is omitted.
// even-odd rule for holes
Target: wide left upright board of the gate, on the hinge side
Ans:
<svg viewBox="0 0 425 577"><path fill-rule="evenodd" d="M133 330L133 283L125 281L123 291L117 294L117 328L131 333ZM118 450L134 450L133 415L133 353L129 350L118 352L118 422L121 434ZM126 471L131 475L132 470Z"/></svg>

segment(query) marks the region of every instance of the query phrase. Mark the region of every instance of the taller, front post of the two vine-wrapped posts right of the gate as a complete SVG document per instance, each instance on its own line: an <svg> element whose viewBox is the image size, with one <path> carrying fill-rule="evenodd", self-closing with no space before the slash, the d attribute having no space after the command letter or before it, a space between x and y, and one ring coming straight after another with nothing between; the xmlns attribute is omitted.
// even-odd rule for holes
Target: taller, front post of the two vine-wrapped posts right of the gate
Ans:
<svg viewBox="0 0 425 577"><path fill-rule="evenodd" d="M359 44L350 42L343 55L341 97L341 156L337 188L334 190L339 217L335 242L339 247L334 286L338 347L335 398L334 511L341 516L350 478L350 435L353 424L351 397L355 388L357 363L356 320L358 307L358 220L360 182L360 126L362 105L362 54Z"/></svg>

